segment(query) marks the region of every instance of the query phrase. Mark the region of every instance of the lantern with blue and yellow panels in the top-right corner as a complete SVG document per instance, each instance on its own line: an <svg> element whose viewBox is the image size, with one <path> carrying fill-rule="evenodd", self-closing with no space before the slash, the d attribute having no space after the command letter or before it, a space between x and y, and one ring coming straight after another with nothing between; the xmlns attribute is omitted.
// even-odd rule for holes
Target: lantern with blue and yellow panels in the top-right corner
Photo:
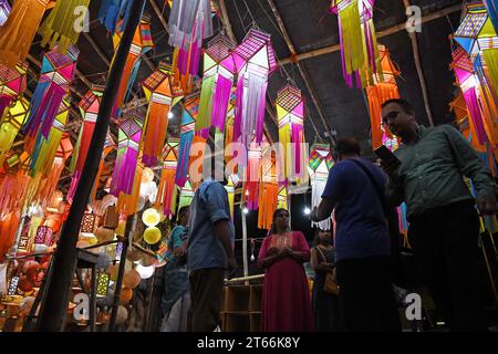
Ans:
<svg viewBox="0 0 498 354"><path fill-rule="evenodd" d="M470 55L474 64L481 64L490 86L498 94L498 35L483 2L465 6L454 39Z"/></svg>

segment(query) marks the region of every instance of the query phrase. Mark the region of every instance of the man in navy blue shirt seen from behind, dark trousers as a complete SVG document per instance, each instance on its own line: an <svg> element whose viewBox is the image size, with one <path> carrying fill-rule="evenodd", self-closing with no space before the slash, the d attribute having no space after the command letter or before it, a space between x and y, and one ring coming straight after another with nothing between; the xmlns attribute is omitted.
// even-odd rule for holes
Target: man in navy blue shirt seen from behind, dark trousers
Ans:
<svg viewBox="0 0 498 354"><path fill-rule="evenodd" d="M360 144L342 138L313 221L335 208L336 275L346 331L401 331L392 287L390 233L381 196L381 168L360 157Z"/></svg>

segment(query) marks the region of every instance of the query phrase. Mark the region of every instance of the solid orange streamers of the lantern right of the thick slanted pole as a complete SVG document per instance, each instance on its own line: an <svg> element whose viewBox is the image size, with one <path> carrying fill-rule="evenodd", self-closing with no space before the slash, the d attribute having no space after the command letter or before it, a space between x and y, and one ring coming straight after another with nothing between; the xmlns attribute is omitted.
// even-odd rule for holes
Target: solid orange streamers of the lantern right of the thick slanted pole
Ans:
<svg viewBox="0 0 498 354"><path fill-rule="evenodd" d="M151 102L144 135L144 156L142 162L147 167L154 167L159 160L168 129L169 105Z"/></svg>

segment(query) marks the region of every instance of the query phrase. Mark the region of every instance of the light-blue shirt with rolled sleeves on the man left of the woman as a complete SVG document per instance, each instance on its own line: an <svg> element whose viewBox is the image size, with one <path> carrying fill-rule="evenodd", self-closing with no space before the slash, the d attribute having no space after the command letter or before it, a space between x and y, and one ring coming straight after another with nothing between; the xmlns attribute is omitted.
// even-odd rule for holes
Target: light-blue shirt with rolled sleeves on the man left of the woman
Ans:
<svg viewBox="0 0 498 354"><path fill-rule="evenodd" d="M234 244L235 228L225 187L212 179L205 180L197 189L190 205L188 222L188 270L226 268L228 257L215 231L215 223L227 220Z"/></svg>

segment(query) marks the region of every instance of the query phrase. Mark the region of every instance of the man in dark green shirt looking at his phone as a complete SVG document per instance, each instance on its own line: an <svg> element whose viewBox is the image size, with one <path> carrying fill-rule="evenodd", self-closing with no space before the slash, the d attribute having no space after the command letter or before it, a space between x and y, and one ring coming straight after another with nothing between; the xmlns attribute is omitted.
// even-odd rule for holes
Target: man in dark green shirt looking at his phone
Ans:
<svg viewBox="0 0 498 354"><path fill-rule="evenodd" d="M408 239L430 295L452 331L485 330L475 205L480 215L495 214L491 174L458 131L419 126L406 101L385 102L382 121L402 140L395 152L401 164L383 166L391 177L387 191L394 205L407 205Z"/></svg>

